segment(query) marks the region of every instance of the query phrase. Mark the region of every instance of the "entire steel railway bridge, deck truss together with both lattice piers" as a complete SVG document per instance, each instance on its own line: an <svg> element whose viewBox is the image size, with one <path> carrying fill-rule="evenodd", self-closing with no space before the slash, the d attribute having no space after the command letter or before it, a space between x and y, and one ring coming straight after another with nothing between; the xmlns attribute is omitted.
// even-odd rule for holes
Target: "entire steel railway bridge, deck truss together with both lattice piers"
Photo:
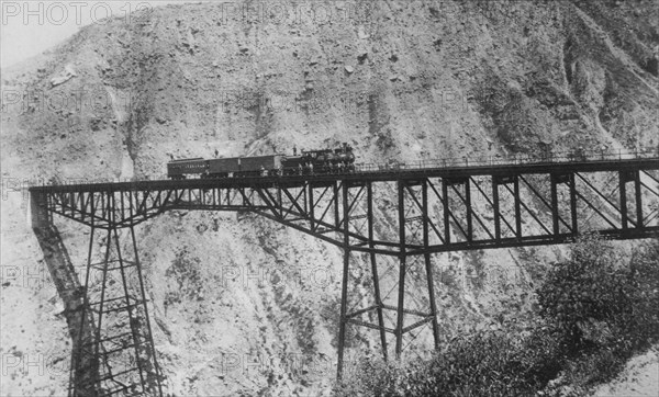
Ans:
<svg viewBox="0 0 659 397"><path fill-rule="evenodd" d="M74 344L70 395L161 395L134 227L167 211L252 212L340 247L339 378L348 326L378 331L386 360L390 343L401 356L412 331L428 329L438 344L434 253L562 243L589 231L612 239L659 236L657 152L418 166L31 188L35 229L52 225L54 214L91 228L85 321ZM395 218L382 215L392 213ZM121 250L120 229L129 230L123 234L129 252ZM376 232L382 229L389 231ZM105 236L107 246L97 259L99 236ZM391 261L398 276L394 288L383 294L379 265ZM364 263L372 277L372 305L348 309L348 274ZM102 272L100 282L89 279L90 269ZM427 307L411 307L405 298L411 271L424 275ZM393 291L398 295L390 298Z"/></svg>

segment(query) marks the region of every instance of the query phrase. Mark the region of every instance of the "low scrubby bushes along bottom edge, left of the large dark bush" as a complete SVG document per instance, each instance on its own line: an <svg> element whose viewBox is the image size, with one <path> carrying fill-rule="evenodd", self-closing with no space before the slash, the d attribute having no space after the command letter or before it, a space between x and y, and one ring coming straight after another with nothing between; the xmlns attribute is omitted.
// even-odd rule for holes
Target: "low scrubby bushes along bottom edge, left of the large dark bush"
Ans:
<svg viewBox="0 0 659 397"><path fill-rule="evenodd" d="M481 331L454 339L428 361L364 361L338 396L520 396L539 390L562 365L555 330Z"/></svg>

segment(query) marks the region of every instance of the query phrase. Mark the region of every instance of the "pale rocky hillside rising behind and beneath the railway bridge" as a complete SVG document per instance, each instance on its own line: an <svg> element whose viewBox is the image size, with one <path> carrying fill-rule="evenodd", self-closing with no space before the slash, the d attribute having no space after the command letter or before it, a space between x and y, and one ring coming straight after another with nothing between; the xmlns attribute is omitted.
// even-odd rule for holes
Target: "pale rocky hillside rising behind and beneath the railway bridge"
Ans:
<svg viewBox="0 0 659 397"><path fill-rule="evenodd" d="M170 158L342 141L359 162L659 144L655 1L265 4L156 8L2 70L3 180L154 179ZM64 306L56 283L23 280L48 272L11 186L2 264L21 277L3 280L1 349L22 361L2 394L62 395ZM85 263L88 235L58 226L71 262ZM166 214L139 228L138 245L168 393L331 392L338 250L243 214ZM561 254L437 256L443 338L523 315L543 264ZM327 277L293 274L310 269ZM369 274L350 277L368 302ZM354 350L376 352L376 337L353 332ZM40 356L45 371L22 365Z"/></svg>

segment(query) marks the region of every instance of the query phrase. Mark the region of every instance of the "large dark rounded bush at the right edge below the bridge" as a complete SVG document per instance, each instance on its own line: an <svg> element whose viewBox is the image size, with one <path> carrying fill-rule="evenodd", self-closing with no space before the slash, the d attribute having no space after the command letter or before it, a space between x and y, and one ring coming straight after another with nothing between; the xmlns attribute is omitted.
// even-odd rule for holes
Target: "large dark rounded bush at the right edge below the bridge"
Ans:
<svg viewBox="0 0 659 397"><path fill-rule="evenodd" d="M628 260L600 237L585 236L569 261L549 270L537 295L540 316L562 330L572 355L603 345L646 347L659 334L657 247Z"/></svg>

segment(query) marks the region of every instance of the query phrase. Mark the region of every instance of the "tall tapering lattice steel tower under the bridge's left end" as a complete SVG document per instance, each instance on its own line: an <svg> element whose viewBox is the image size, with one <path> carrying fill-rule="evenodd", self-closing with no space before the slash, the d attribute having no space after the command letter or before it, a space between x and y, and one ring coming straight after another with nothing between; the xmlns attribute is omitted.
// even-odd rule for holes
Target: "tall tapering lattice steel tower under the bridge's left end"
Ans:
<svg viewBox="0 0 659 397"><path fill-rule="evenodd" d="M83 288L82 317L92 331L78 333L71 371L80 381L69 396L163 396L133 226L92 226Z"/></svg>

